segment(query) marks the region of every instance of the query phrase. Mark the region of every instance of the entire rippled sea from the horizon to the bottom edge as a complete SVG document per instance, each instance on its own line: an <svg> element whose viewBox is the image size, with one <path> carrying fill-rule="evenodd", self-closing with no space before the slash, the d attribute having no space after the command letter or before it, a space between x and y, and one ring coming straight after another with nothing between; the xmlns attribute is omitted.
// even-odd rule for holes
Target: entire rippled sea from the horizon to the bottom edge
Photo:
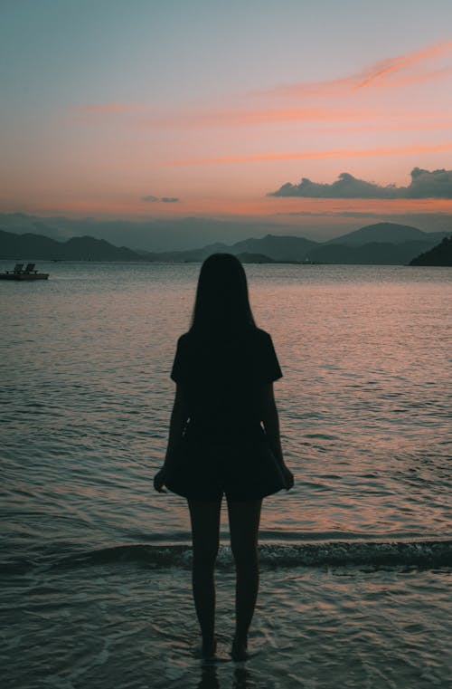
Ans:
<svg viewBox="0 0 452 689"><path fill-rule="evenodd" d="M186 503L152 486L200 265L38 268L0 281L2 689L451 687L452 269L246 266L296 484L246 663L223 509L202 663Z"/></svg>

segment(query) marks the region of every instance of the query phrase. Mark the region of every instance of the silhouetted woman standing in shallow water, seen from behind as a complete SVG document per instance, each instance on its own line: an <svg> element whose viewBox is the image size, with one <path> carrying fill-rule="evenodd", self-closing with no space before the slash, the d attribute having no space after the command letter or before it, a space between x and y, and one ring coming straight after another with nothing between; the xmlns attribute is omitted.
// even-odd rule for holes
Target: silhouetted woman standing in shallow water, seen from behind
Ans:
<svg viewBox="0 0 452 689"><path fill-rule="evenodd" d="M262 498L294 483L281 451L273 396L273 381L281 375L270 336L254 322L240 261L213 254L202 264L191 328L177 342L168 447L154 479L155 490L164 492L166 485L188 500L204 657L216 650L213 570L223 495L237 574L231 655L247 657L259 588Z"/></svg>

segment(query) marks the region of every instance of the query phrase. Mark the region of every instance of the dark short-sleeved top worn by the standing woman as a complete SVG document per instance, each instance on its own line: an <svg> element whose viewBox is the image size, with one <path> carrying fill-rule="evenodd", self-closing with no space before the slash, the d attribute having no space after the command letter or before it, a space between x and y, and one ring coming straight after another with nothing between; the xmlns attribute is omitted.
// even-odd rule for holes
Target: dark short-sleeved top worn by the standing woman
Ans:
<svg viewBox="0 0 452 689"><path fill-rule="evenodd" d="M281 377L271 337L259 328L214 341L187 332L171 371L184 387L191 423L213 430L259 425L262 386Z"/></svg>

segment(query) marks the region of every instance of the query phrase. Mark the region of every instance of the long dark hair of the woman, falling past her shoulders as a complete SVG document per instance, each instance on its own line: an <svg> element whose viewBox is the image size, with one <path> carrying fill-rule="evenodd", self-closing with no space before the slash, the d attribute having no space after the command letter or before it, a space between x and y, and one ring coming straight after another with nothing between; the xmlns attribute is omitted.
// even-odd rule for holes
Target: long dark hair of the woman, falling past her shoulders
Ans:
<svg viewBox="0 0 452 689"><path fill-rule="evenodd" d="M232 254L212 254L202 263L190 331L224 337L255 327L242 264Z"/></svg>

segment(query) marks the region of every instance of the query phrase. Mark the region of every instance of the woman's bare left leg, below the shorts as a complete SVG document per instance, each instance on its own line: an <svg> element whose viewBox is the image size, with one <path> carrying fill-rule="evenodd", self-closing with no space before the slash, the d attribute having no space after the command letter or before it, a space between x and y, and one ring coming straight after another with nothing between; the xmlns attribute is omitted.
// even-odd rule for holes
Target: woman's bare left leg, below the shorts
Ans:
<svg viewBox="0 0 452 689"><path fill-rule="evenodd" d="M221 499L189 500L193 537L193 598L201 627L202 655L215 653L215 582L213 570L220 542Z"/></svg>

